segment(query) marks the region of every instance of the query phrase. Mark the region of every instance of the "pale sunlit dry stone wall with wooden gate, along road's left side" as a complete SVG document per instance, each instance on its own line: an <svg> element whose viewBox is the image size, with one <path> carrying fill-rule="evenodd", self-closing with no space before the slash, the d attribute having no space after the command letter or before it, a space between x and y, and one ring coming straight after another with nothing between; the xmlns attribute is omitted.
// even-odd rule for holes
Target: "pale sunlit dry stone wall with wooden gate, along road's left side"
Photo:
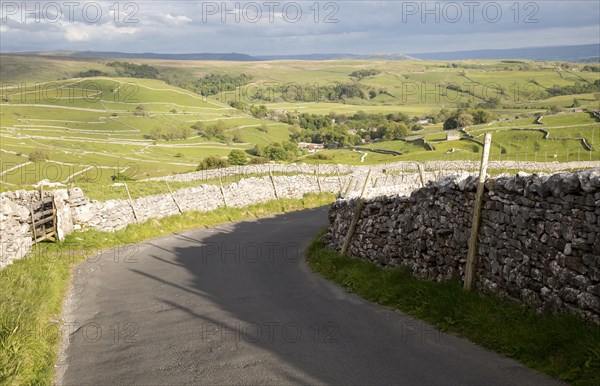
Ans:
<svg viewBox="0 0 600 386"><path fill-rule="evenodd" d="M348 170L346 170L348 172ZM333 174L333 173L332 173ZM429 178L434 175L427 174ZM345 192L358 195L366 173L323 176L298 174L294 176L264 176L245 178L225 185L199 185L129 200L89 201L79 188L60 189L51 194L57 213L57 233L62 240L74 231L96 229L116 231L129 224L179 214L180 211L210 211L219 207L243 207L278 198L301 198L306 193ZM368 197L380 194L407 194L421 186L420 177L413 175L387 176L373 172L365 189ZM32 248L32 202L39 200L39 191L16 191L0 194L0 269L15 259L24 257Z"/></svg>

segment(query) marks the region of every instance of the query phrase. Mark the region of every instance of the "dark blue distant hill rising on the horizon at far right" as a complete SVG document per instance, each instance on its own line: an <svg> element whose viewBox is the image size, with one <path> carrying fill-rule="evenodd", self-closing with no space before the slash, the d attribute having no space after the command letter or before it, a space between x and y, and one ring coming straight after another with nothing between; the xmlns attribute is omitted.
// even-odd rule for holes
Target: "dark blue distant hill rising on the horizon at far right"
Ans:
<svg viewBox="0 0 600 386"><path fill-rule="evenodd" d="M597 62L600 60L600 45L585 44L579 46L509 48L502 50L430 52L411 55L424 60L530 59Z"/></svg>

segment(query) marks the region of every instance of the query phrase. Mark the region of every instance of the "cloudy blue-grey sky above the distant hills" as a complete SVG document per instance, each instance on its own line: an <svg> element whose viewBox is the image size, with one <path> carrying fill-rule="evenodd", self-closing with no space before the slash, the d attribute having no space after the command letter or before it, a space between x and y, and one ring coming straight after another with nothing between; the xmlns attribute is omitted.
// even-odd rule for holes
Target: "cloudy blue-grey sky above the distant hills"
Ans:
<svg viewBox="0 0 600 386"><path fill-rule="evenodd" d="M0 50L421 53L600 44L591 1L0 1Z"/></svg>

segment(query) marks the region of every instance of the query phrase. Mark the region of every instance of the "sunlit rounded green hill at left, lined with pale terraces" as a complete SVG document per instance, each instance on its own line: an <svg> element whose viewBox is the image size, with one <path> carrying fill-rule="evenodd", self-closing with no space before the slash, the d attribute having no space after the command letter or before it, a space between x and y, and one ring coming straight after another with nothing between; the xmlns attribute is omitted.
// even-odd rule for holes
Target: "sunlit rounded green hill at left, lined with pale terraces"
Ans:
<svg viewBox="0 0 600 386"><path fill-rule="evenodd" d="M68 182L87 168L93 173L79 179L96 181L98 171L98 182L118 171L136 179L186 172L209 155L289 137L288 125L255 119L159 80L69 79L5 86L0 97L4 188L44 178ZM191 129L219 121L225 135L239 133L241 142L207 139ZM258 130L263 124L266 132ZM157 131L173 139L156 140ZM48 159L27 165L33 152ZM23 166L7 172L17 165Z"/></svg>

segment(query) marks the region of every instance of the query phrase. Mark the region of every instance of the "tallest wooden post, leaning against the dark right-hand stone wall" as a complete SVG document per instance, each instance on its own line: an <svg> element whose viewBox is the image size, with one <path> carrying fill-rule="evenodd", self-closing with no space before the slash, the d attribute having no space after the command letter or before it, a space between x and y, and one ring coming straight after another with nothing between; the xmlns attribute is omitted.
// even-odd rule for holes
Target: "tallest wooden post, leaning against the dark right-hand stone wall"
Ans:
<svg viewBox="0 0 600 386"><path fill-rule="evenodd" d="M479 225L481 224L481 207L483 204L483 193L485 190L485 178L487 173L488 158L490 156L490 145L492 143L492 134L487 133L483 141L483 154L481 155L481 165L479 167L479 181L477 183L477 194L473 205L473 219L471 221L471 236L469 237L469 252L467 254L467 264L465 267L464 289L469 291L473 286L473 274L475 269L475 259L477 257L477 235L479 234Z"/></svg>

